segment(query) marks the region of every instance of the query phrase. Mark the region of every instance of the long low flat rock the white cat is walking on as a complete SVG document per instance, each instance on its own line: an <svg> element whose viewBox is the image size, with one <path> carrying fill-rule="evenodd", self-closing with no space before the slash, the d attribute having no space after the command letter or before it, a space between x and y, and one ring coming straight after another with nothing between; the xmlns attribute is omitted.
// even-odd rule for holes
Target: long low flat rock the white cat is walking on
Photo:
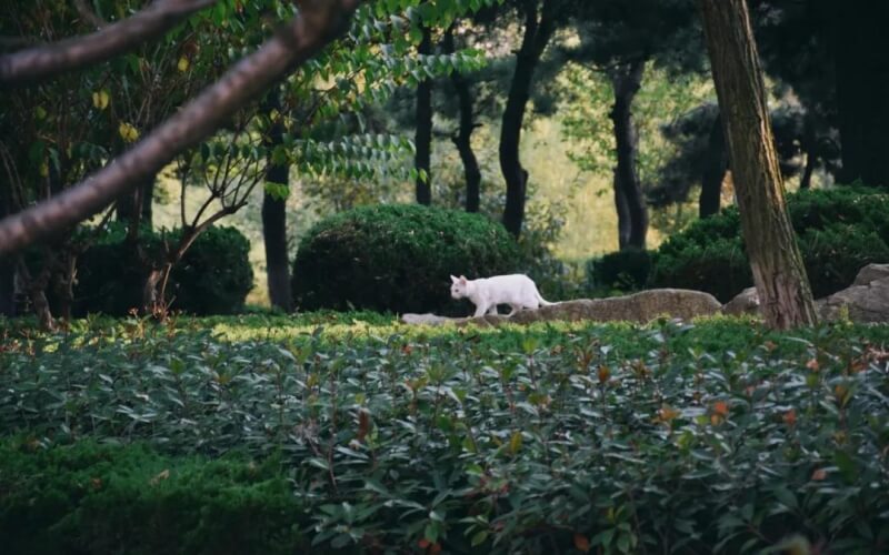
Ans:
<svg viewBox="0 0 889 555"><path fill-rule="evenodd" d="M566 301L538 310L526 310L512 317L480 316L444 319L433 314L404 314L406 323L441 324L452 322L458 325L473 323L499 325L502 323L530 324L532 322L593 320L598 322L630 321L646 323L658 316L690 320L696 316L717 314L722 305L711 294L683 289L655 289L627 296L611 299L580 299Z"/></svg>

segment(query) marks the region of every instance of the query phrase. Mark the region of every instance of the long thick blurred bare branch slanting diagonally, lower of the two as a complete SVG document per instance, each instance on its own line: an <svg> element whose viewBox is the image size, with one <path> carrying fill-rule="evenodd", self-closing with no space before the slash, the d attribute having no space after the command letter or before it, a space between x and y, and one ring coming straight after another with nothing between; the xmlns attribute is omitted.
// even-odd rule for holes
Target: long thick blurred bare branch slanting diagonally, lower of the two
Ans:
<svg viewBox="0 0 889 555"><path fill-rule="evenodd" d="M78 185L0 221L0 253L73 225L159 172L177 154L211 135L259 95L346 30L361 0L317 0L257 52L231 68L176 115Z"/></svg>

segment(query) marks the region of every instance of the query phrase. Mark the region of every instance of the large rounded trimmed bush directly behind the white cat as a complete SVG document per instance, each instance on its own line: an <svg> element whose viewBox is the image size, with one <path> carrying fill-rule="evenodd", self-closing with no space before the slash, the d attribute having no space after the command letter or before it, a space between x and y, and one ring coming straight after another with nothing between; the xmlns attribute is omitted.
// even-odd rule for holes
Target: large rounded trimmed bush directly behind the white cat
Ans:
<svg viewBox="0 0 889 555"><path fill-rule="evenodd" d="M450 275L515 272L516 242L478 214L421 205L363 206L332 215L303 238L293 262L301 310L466 313Z"/></svg>

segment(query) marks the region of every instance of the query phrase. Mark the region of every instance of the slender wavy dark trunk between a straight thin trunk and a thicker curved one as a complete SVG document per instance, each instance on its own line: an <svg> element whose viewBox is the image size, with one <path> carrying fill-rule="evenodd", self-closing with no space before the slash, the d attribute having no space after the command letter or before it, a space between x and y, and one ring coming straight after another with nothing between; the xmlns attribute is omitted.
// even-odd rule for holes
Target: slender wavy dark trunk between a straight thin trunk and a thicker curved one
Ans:
<svg viewBox="0 0 889 555"><path fill-rule="evenodd" d="M444 33L442 49L446 54L452 54L453 47L453 26L448 28ZM478 127L475 121L475 101L469 80L459 71L451 73L451 84L457 92L460 103L460 129L451 137L460 160L463 162L463 174L466 175L466 211L478 212L481 204L481 170L476 152L472 150L472 131Z"/></svg>

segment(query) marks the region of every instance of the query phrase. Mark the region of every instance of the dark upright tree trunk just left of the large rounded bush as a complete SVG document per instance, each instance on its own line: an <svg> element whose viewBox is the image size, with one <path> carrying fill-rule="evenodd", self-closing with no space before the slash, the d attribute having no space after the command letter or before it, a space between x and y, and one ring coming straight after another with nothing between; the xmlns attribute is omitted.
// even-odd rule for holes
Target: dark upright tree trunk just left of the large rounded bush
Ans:
<svg viewBox="0 0 889 555"><path fill-rule="evenodd" d="M278 91L269 93L267 105L269 112L280 109ZM283 125L272 123L269 137L264 139L266 148L273 152L283 144ZM271 155L271 154L270 154ZM290 168L287 163L276 164L269 160L266 167L266 181L280 185L290 184ZM290 290L290 264L287 253L287 201L280 196L262 193L262 242L266 246L267 285L269 302L284 312L293 310Z"/></svg>

